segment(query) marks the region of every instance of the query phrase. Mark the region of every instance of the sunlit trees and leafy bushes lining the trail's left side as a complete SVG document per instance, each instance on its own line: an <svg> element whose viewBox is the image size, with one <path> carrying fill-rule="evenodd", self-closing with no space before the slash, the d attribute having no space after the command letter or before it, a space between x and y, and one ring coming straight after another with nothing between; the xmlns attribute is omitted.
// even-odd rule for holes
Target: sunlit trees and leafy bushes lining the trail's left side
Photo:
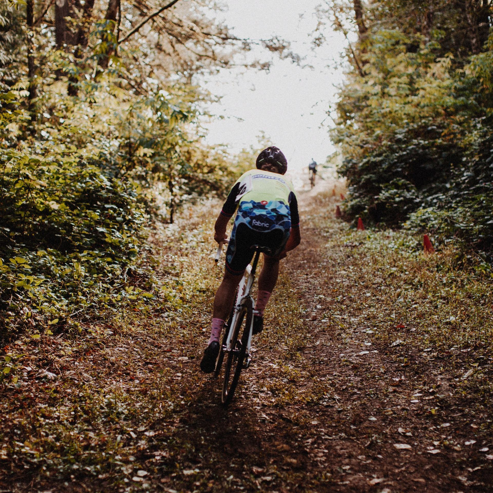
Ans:
<svg viewBox="0 0 493 493"><path fill-rule="evenodd" d="M4 339L152 298L139 268L144 227L221 195L251 164L248 151L231 158L204 141L214 96L198 77L293 55L279 38L232 35L219 9L210 0L1 3ZM246 64L253 44L268 56Z"/></svg>

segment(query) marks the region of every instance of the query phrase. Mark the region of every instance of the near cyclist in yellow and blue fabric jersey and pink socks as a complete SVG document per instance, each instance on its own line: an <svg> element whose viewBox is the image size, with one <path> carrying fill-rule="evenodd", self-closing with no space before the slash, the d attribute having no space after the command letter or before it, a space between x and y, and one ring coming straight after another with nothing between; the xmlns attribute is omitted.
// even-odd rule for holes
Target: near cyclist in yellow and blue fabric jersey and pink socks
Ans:
<svg viewBox="0 0 493 493"><path fill-rule="evenodd" d="M276 285L279 261L300 244L298 204L291 182L283 178L287 161L277 147L267 147L257 157L256 170L244 173L233 185L214 226L214 240L223 242L226 226L238 206L228 249L226 268L216 291L212 314L211 338L200 368L214 370L219 354L219 336L236 296L236 288L253 257L252 246L268 248L258 278L258 296L253 316L253 334L264 325L264 310Z"/></svg>

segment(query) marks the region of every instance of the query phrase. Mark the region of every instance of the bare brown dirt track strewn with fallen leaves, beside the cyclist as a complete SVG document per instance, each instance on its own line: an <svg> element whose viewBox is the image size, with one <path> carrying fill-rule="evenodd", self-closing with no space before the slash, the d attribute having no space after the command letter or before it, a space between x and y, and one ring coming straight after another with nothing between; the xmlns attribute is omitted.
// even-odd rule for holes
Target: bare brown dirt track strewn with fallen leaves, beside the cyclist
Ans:
<svg viewBox="0 0 493 493"><path fill-rule="evenodd" d="M328 232L317 224L326 224L329 211L308 202L303 245L286 263L291 293L298 295L291 302L304 311L300 357L290 362L290 373L303 378L291 382L312 397L268 404L280 391L262 387L269 378L260 374L280 364L287 348L267 345L259 348L243 376L243 392L228 411L216 405L219 383L211 390L206 381L202 399L182 422L184 441L209 458L216 481L221 469L238 472L228 489L492 491L491 467L473 447L481 436L474 417L467 416L474 406L450 387L453 376L437 373L426 356L403 363L398 343L369 342L372 331L360 318L365 309L378 310L375 273L364 259L348 254L351 245L341 239L338 247L326 246L328 236L340 235L335 222ZM333 293L348 302L338 306ZM364 307L362 297L369 298ZM438 422L430 409L440 409Z"/></svg>

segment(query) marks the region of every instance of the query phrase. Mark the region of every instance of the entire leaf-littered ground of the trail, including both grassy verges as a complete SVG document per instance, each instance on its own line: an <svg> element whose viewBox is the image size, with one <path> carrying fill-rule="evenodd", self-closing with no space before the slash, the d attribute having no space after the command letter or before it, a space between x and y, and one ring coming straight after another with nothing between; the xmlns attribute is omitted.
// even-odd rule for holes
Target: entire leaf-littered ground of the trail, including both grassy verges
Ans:
<svg viewBox="0 0 493 493"><path fill-rule="evenodd" d="M29 342L0 404L2 491L492 491L491 280L350 229L337 203L301 194L302 245L228 409L198 363L217 204L156 229L162 308Z"/></svg>

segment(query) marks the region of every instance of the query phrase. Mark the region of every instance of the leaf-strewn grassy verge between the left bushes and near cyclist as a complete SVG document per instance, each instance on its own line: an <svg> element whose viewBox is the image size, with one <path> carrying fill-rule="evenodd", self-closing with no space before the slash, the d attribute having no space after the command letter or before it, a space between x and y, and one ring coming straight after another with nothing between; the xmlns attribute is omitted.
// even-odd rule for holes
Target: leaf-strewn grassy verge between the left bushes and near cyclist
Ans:
<svg viewBox="0 0 493 493"><path fill-rule="evenodd" d="M145 483L137 471L150 471L152 451L169 450L169 420L200 381L189 367L207 340L218 270L210 221L193 222L156 234L153 305L88 321L75 338L44 333L9 345L4 368L15 382L3 382L0 457L9 466L0 476L65 485L110 478L104 488ZM160 465L167 467L179 464L170 457Z"/></svg>

